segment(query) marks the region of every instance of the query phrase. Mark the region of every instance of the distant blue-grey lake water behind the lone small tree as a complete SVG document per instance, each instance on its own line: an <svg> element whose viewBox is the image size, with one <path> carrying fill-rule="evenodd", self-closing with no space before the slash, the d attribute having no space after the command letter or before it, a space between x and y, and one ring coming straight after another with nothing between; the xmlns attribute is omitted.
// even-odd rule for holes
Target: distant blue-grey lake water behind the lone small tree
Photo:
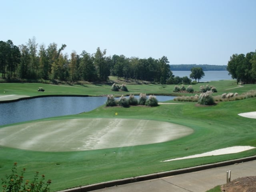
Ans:
<svg viewBox="0 0 256 192"><path fill-rule="evenodd" d="M184 77L190 76L191 71L172 71L174 76ZM204 81L218 81L218 80L230 80L232 77L228 75L228 71L204 71L204 77L200 79L200 82Z"/></svg>

